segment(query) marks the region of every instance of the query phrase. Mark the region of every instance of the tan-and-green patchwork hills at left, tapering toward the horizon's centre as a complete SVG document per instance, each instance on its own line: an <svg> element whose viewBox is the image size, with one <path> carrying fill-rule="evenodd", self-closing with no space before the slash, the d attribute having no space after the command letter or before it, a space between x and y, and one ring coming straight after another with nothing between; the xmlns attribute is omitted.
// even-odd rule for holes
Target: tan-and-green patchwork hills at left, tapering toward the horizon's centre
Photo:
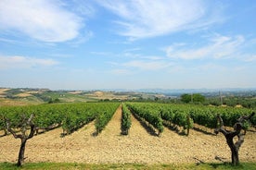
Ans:
<svg viewBox="0 0 256 170"><path fill-rule="evenodd" d="M164 98L162 94L134 91L51 91L48 89L0 88L0 105L77 103Z"/></svg>

